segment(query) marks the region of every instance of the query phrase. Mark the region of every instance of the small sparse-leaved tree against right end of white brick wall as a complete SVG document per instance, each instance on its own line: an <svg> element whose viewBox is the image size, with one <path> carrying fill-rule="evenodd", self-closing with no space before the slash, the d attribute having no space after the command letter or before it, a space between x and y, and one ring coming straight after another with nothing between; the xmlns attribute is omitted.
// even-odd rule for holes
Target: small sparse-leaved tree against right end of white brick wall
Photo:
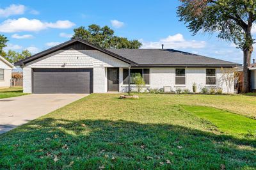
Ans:
<svg viewBox="0 0 256 170"><path fill-rule="evenodd" d="M227 87L227 93L231 93L232 86L234 86L235 79L239 77L241 72L237 72L236 68L221 68L221 80Z"/></svg>

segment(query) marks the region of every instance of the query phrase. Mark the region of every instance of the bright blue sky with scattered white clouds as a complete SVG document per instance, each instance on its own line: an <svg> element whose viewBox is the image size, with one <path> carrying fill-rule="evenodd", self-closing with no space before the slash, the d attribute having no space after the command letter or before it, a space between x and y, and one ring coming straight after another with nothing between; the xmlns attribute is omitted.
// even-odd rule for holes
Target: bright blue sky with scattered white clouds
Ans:
<svg viewBox="0 0 256 170"><path fill-rule="evenodd" d="M243 53L216 35L192 36L179 22L177 0L141 1L7 1L0 2L0 34L8 47L33 54L65 42L79 26L109 26L116 35L138 39L142 48L178 49L242 63Z"/></svg>

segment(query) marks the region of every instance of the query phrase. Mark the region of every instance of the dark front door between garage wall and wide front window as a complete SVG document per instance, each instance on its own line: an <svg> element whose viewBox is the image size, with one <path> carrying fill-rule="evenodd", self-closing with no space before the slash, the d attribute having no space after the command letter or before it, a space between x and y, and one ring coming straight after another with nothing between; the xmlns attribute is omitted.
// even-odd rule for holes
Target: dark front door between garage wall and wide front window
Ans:
<svg viewBox="0 0 256 170"><path fill-rule="evenodd" d="M118 91L119 68L108 68L108 91Z"/></svg>

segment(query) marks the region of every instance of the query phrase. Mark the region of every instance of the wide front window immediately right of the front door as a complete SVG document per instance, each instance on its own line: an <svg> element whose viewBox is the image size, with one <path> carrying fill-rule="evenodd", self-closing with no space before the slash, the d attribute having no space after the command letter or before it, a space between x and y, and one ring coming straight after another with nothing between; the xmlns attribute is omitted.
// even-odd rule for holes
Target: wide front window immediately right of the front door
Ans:
<svg viewBox="0 0 256 170"><path fill-rule="evenodd" d="M130 84L135 84L134 77L140 74L145 81L145 84L149 84L149 68L132 68L130 69ZM129 70L128 68L124 68L123 70L123 84L129 84Z"/></svg>

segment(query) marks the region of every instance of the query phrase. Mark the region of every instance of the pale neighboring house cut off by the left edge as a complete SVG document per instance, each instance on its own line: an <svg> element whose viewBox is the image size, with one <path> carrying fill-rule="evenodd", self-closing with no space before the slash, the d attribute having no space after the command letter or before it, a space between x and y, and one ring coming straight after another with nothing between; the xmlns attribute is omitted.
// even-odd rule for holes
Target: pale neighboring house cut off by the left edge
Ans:
<svg viewBox="0 0 256 170"><path fill-rule="evenodd" d="M13 66L9 61L0 56L0 88L9 88L12 85Z"/></svg>

